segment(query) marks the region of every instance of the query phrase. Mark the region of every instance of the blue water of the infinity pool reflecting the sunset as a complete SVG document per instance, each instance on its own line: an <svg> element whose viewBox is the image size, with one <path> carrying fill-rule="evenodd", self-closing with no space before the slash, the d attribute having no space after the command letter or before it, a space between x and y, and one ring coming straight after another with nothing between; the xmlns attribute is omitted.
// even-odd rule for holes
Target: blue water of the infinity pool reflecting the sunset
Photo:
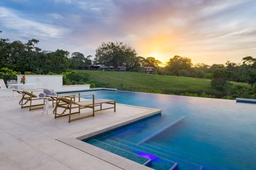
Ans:
<svg viewBox="0 0 256 170"><path fill-rule="evenodd" d="M94 138L150 158L152 168L256 169L255 104L126 91L85 94L163 110Z"/></svg>

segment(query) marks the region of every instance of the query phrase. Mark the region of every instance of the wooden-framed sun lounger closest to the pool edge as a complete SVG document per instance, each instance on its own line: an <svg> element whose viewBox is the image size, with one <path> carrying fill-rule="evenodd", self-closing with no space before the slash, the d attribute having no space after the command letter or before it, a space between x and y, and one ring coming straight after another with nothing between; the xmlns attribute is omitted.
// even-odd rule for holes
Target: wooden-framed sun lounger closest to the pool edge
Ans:
<svg viewBox="0 0 256 170"><path fill-rule="evenodd" d="M68 122L72 122L72 121L76 121L76 120L81 120L83 118L92 117L92 116L94 116L95 112L103 111L106 109L114 108L114 112L116 112L116 101L115 100L94 99L94 95L86 95L86 96L92 96L92 99L81 101L80 97L82 97L82 96L79 96L79 98L78 98L79 101L76 102L76 101L73 101L66 97L53 97L53 98L55 98L55 100L57 100L56 106L53 110L53 114L55 115L54 117L58 118L58 117L63 117L63 116L69 116ZM110 104L110 105L114 105L114 106L102 108L102 104ZM97 107L97 106L99 106L100 108L95 110L95 107ZM58 107L63 108L63 111L61 113L58 113L58 111L57 111ZM83 109L83 108L92 108L92 114L77 117L77 118L71 118L71 115L80 114L81 109ZM78 109L78 111L72 112L72 111L74 111L74 109ZM69 110L69 112L67 114L65 114L67 110Z"/></svg>

